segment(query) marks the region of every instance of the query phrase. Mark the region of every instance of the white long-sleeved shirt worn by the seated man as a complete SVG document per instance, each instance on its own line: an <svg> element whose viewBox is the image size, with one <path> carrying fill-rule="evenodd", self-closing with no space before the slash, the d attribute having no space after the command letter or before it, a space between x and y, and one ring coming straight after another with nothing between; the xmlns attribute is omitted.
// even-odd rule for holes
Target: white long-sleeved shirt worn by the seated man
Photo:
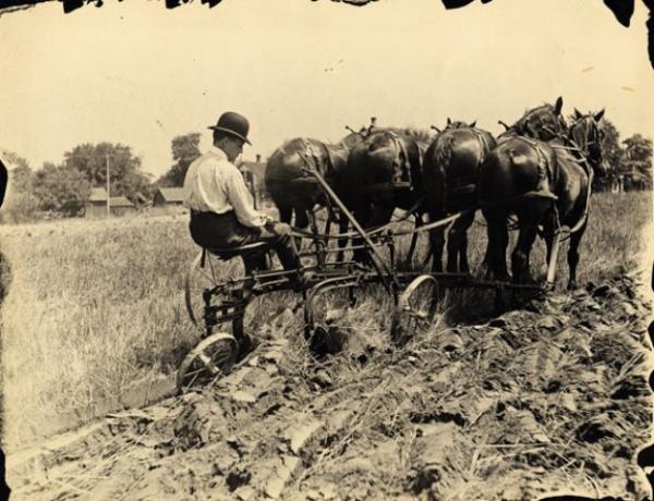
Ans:
<svg viewBox="0 0 654 501"><path fill-rule="evenodd" d="M199 212L233 210L245 227L263 227L268 220L254 208L241 171L216 146L189 167L184 178L184 206Z"/></svg>

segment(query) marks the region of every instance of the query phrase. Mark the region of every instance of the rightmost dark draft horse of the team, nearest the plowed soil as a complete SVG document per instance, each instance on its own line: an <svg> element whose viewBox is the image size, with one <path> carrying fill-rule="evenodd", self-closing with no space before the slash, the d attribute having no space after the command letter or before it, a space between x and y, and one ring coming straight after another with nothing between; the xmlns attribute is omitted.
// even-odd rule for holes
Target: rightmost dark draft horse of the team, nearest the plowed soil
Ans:
<svg viewBox="0 0 654 501"><path fill-rule="evenodd" d="M591 184L594 175L605 174L606 166L600 127L604 110L584 115L574 111L574 122L566 135L548 142L509 137L482 166L479 199L487 221L486 258L498 280L509 279L507 219L512 212L519 227L518 243L511 254L512 281L531 281L529 257L540 224L544 228L548 262L555 235L568 227L568 289L577 286L579 243L586 228ZM548 272L550 279L553 272Z"/></svg>

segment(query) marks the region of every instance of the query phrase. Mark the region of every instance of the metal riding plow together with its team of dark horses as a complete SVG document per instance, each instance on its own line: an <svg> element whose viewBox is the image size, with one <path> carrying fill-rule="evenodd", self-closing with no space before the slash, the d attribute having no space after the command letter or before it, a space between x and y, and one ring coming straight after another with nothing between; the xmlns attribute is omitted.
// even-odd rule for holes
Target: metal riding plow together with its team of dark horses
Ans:
<svg viewBox="0 0 654 501"><path fill-rule="evenodd" d="M189 272L185 297L192 321L203 330L203 340L182 363L178 387L193 387L229 371L240 355L251 349L251 338L244 331L251 301L290 290L291 277L298 271L311 276L301 290L295 288L303 300L304 338L310 345L323 346L326 352L330 352L328 346L334 340L347 337L340 332L338 319L354 306L358 291L365 284L383 285L391 298L389 335L398 345L429 328L447 289L495 290L497 313L504 309L509 291L542 293L552 289L566 234L570 236L568 286L573 289L593 171L604 169L598 129L604 111L583 115L576 110L574 123L568 129L560 114L561 107L559 98L555 106L545 105L526 112L497 140L476 130L474 123L449 120L448 127L425 148L393 130L368 131L367 136L349 149L347 162L340 149L337 155L315 140L290 142L286 146L294 148L292 155L282 147L280 155L284 160L272 160L268 166L275 174L268 179L269 186L280 188L280 180L288 183L292 174L301 183L301 192L311 192L311 197L300 200L290 196L292 190L287 184L289 198L295 198L296 220L300 213L303 215L300 220L306 223L307 210L322 198L329 212L325 233L318 233L315 218L312 232L294 230L294 237L308 241L301 246L305 248L301 253L304 259L301 270L271 271L266 266L264 270L246 270L244 277L223 280L217 272L220 265L215 258L230 259L255 252L264 253L269 262L268 249L263 244L253 244L201 252ZM334 160L337 157L338 162ZM274 154L272 158L277 156ZM288 167L290 162L292 169ZM276 178L284 170L286 178ZM278 196L282 194L279 192ZM288 216L291 211L290 206L282 210L278 204L278 208L280 215ZM399 229L397 221L391 221L396 208L405 210L402 219L416 217L413 229ZM465 232L477 209L487 222L484 262L494 280L480 279L469 271ZM340 233L331 235L330 222L337 212ZM427 224L422 223L422 213L428 215ZM509 279L506 246L511 215L516 217L519 234L511 256L512 279ZM349 227L354 231L347 233ZM417 237L427 232L429 255L425 264L399 269L396 249L400 240L411 236L407 260L412 262ZM538 233L547 245L543 284L529 280L529 256ZM445 234L452 245L448 242L448 266L444 272ZM350 239L348 247L342 245L344 239ZM329 245L334 240L339 241L338 248ZM352 252L350 260L343 259L346 250ZM335 253L336 259L331 259ZM434 259L432 270L425 271L429 257ZM207 283L196 286L197 278ZM336 311L325 307L328 296L334 294L347 296ZM228 322L231 334L218 332Z"/></svg>

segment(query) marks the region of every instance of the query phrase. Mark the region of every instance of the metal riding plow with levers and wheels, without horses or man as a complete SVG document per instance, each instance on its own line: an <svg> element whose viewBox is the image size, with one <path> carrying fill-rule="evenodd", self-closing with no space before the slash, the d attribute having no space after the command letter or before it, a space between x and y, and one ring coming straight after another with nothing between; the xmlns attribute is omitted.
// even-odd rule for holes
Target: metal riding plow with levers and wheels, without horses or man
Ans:
<svg viewBox="0 0 654 501"><path fill-rule="evenodd" d="M293 235L308 245L300 253L303 260L311 260L303 271L310 273L300 291L303 307L304 338L312 346L342 343L347 335L339 327L340 318L347 308L354 307L364 285L382 285L391 297L393 310L390 321L390 339L396 345L426 331L437 315L438 301L447 289L492 289L496 291L496 308L502 303L507 291L543 292L554 282L554 273L548 272L545 284L519 284L508 281L485 280L464 272L427 272L424 270L399 270L396 267L396 247L400 239L453 224L458 218L476 210L469 208L439 221L422 224L411 230L398 230L391 222L383 228L366 231L347 209L323 176L312 171L323 186L330 201L348 218L354 232L347 234L319 234L293 231ZM330 247L330 240L358 239L347 247ZM410 253L415 247L412 242ZM329 258L347 250L364 250L367 264L355 260L330 260ZM193 260L185 280L185 302L191 321L202 329L199 343L186 355L178 370L177 383L180 390L207 383L228 374L239 358L244 355L243 346L250 346L252 339L244 330L244 318L252 301L256 297L280 291L291 291L290 277L295 270L254 270L239 278L225 279L220 268L227 259L244 253L265 253L269 266L271 259L265 244L251 244L233 249L203 248ZM549 270L554 269L556 253L550 256ZM409 260L412 256L409 256ZM329 297L344 296L340 308L329 308ZM231 323L231 333L223 326ZM320 349L318 349L320 350ZM334 350L334 349L331 349ZM245 347L247 351L247 347Z"/></svg>

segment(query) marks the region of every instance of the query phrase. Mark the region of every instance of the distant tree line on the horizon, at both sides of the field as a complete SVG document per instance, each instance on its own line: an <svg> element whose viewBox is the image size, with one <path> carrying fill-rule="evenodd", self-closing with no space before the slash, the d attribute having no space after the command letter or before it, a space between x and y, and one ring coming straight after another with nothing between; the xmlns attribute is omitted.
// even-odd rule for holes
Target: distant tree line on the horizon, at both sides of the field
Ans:
<svg viewBox="0 0 654 501"><path fill-rule="evenodd" d="M131 147L121 144L82 144L65 151L61 164L45 162L36 170L16 152L3 150L10 174L0 221L26 222L45 215L83 216L92 188L107 185L107 166L111 196L125 196L135 205L152 200L157 187L183 184L189 166L201 155L199 138L195 132L174 137L173 163L157 180L142 170L141 158ZM604 119L602 140L610 171L607 178L595 179L595 190L611 190L616 185L652 190L652 139L633 134L620 140L616 126Z"/></svg>

